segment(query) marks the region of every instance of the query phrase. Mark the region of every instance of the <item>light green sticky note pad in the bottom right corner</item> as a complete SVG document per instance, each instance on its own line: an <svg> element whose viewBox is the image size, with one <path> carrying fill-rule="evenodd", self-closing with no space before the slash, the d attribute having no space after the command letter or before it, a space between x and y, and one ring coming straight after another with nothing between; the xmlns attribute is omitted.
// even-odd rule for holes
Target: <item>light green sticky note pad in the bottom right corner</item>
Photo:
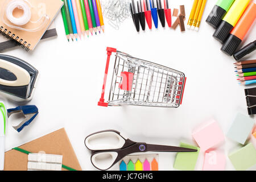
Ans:
<svg viewBox="0 0 256 182"><path fill-rule="evenodd" d="M256 150L252 143L229 154L229 159L237 171L245 171L256 164Z"/></svg>

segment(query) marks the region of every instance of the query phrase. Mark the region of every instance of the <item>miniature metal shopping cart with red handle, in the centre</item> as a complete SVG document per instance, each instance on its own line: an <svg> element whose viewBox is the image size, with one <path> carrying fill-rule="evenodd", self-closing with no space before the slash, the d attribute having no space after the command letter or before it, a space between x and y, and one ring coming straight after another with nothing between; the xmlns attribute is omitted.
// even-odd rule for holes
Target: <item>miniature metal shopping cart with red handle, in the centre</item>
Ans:
<svg viewBox="0 0 256 182"><path fill-rule="evenodd" d="M104 84L99 106L179 107L182 103L186 77L184 73L150 61L138 59L108 47ZM115 62L109 99L104 100L110 58ZM113 57L113 56L112 56Z"/></svg>

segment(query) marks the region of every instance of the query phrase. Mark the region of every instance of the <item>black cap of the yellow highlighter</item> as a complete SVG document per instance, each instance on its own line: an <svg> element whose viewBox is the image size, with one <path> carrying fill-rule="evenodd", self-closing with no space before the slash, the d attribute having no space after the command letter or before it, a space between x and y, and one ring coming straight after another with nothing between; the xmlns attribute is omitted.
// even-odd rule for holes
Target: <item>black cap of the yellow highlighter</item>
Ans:
<svg viewBox="0 0 256 182"><path fill-rule="evenodd" d="M233 28L234 27L232 26L232 24L229 24L228 22L222 20L220 26L218 26L218 28L215 30L213 37L222 44L224 44Z"/></svg>

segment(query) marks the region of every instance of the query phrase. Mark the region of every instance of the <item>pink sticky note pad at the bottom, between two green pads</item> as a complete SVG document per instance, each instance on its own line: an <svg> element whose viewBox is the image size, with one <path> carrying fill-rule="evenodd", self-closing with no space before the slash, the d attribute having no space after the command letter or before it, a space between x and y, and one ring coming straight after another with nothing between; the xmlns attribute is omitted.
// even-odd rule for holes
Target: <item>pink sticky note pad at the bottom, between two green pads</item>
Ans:
<svg viewBox="0 0 256 182"><path fill-rule="evenodd" d="M226 156L224 152L208 150L204 155L203 171L224 171L226 166Z"/></svg>

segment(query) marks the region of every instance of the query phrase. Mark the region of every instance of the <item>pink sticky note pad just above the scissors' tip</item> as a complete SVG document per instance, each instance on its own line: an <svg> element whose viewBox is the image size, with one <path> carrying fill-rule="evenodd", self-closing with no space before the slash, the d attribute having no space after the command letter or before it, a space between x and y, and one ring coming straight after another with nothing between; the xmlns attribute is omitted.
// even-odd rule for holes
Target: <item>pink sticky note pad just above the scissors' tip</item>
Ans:
<svg viewBox="0 0 256 182"><path fill-rule="evenodd" d="M218 122L214 119L203 123L203 125L193 131L192 136L201 148L201 151L216 147L225 140Z"/></svg>

